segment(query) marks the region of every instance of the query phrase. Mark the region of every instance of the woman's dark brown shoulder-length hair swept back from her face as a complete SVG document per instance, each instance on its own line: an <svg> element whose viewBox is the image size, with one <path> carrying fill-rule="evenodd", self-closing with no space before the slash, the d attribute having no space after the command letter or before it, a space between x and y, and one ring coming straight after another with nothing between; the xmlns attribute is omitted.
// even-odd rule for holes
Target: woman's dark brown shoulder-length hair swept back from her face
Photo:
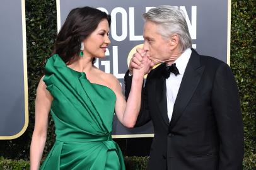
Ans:
<svg viewBox="0 0 256 170"><path fill-rule="evenodd" d="M67 64L78 60L81 42L96 30L103 19L110 26L110 15L105 12L88 6L72 9L57 35L53 53L58 54Z"/></svg>

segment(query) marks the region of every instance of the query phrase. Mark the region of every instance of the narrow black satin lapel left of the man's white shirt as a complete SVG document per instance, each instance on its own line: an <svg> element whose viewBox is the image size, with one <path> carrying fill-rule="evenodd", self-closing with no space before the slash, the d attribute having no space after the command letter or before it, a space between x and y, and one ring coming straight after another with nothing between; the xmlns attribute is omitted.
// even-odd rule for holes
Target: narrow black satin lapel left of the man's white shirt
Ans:
<svg viewBox="0 0 256 170"><path fill-rule="evenodd" d="M167 99L166 99L166 84L165 77L161 74L159 75L158 80L156 81L156 104L158 105L158 109L160 110L160 114L163 118L163 121L166 125L169 125L169 118L167 115Z"/></svg>

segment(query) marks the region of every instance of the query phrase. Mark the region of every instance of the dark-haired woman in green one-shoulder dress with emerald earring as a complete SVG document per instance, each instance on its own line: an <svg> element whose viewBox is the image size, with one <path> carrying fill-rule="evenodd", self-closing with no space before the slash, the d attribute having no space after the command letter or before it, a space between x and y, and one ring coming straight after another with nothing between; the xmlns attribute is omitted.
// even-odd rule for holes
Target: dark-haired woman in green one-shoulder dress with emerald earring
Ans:
<svg viewBox="0 0 256 170"><path fill-rule="evenodd" d="M93 65L95 57L105 57L109 26L110 16L90 7L73 9L67 16L37 88L32 170L40 165L49 112L56 141L41 169L125 169L111 138L113 113L125 127L134 126L149 60L134 70L126 103L119 81Z"/></svg>

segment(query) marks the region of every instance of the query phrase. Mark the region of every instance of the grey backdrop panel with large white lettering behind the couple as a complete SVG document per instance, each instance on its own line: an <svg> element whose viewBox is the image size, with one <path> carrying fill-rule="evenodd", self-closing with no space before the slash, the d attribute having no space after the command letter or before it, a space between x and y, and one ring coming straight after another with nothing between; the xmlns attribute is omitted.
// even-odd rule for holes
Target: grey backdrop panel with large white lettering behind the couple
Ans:
<svg viewBox="0 0 256 170"><path fill-rule="evenodd" d="M96 67L112 73L124 89L124 74L136 47L143 44L142 14L154 6L170 4L181 8L193 39L192 47L203 55L211 55L229 64L230 0L57 0L58 30L69 11L76 7L91 6L111 14L111 44L107 57L97 60ZM152 123L139 128L125 128L114 118L113 137L153 137Z"/></svg>

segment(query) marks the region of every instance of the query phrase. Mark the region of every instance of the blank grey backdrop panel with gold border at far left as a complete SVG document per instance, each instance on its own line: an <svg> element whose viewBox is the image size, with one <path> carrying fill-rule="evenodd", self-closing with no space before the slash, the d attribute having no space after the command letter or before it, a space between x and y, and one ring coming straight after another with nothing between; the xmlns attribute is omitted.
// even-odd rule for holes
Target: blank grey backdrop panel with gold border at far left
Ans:
<svg viewBox="0 0 256 170"><path fill-rule="evenodd" d="M0 23L0 139L15 139L28 126L25 0L1 0Z"/></svg>

